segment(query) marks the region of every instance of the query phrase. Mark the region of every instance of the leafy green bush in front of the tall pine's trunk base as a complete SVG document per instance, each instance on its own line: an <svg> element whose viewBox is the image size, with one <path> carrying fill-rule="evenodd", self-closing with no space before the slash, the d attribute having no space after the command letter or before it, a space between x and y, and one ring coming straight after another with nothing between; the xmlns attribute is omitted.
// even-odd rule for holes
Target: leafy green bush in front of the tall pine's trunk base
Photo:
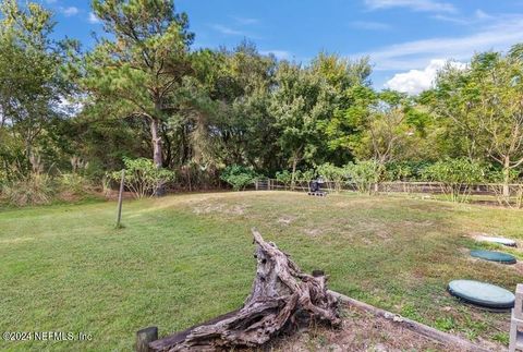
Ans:
<svg viewBox="0 0 523 352"><path fill-rule="evenodd" d="M167 182L174 179L173 171L158 169L153 160L147 158L124 158L123 163L125 166L125 186L137 199L155 195ZM111 179L118 183L121 178L121 171L111 173Z"/></svg>

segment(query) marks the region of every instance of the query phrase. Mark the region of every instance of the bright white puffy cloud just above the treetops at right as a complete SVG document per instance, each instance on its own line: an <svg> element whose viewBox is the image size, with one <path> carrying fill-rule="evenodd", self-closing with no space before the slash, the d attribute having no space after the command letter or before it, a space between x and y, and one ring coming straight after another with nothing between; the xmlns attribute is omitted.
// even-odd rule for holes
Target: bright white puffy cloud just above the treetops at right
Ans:
<svg viewBox="0 0 523 352"><path fill-rule="evenodd" d="M460 70L466 68L466 64L462 62L434 59L430 60L430 63L424 70L411 70L405 73L394 74L394 76L385 84L385 87L410 95L419 94L433 87L438 71L447 63Z"/></svg>

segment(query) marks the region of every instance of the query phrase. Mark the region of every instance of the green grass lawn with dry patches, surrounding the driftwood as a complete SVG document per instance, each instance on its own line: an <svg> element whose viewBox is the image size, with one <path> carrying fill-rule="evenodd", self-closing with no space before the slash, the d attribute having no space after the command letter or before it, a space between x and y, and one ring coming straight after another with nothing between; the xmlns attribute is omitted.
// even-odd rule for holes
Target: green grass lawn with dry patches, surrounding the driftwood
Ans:
<svg viewBox="0 0 523 352"><path fill-rule="evenodd" d="M130 350L135 331L160 336L241 306L254 274L251 227L330 288L436 328L507 343L509 313L458 303L449 280L510 291L519 265L471 259L466 236L523 240L523 210L356 194L173 195L0 211L0 332L72 331L92 341L7 342L0 350ZM523 259L523 252L507 250Z"/></svg>

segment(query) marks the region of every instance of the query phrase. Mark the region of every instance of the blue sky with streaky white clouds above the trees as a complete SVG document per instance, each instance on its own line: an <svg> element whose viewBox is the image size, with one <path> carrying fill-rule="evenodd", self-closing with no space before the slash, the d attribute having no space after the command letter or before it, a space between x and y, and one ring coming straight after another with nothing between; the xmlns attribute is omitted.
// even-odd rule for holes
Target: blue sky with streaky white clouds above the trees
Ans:
<svg viewBox="0 0 523 352"><path fill-rule="evenodd" d="M41 0L57 13L57 35L89 47L100 24L88 0ZM254 41L262 52L308 62L320 50L369 56L376 88L418 93L446 60L506 50L523 41L523 0L179 0L195 47Z"/></svg>

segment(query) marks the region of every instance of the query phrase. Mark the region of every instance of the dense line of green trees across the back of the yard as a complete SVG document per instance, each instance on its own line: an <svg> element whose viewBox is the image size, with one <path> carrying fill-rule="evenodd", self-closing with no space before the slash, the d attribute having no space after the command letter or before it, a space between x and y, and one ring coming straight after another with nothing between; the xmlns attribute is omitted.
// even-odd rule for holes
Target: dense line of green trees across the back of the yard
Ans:
<svg viewBox="0 0 523 352"><path fill-rule="evenodd" d="M188 16L172 0L92 7L105 35L83 48L54 39L41 4L1 0L4 194L24 190L27 201L57 179L73 189L107 183L139 158L149 160L134 165L170 171L171 186L192 190L229 175L287 172L294 182L345 166L374 170L378 181L437 180L461 166L507 194L521 179L520 44L476 53L465 68L448 64L431 89L408 96L373 87L372 58L319 52L300 63L246 40L194 48Z"/></svg>

